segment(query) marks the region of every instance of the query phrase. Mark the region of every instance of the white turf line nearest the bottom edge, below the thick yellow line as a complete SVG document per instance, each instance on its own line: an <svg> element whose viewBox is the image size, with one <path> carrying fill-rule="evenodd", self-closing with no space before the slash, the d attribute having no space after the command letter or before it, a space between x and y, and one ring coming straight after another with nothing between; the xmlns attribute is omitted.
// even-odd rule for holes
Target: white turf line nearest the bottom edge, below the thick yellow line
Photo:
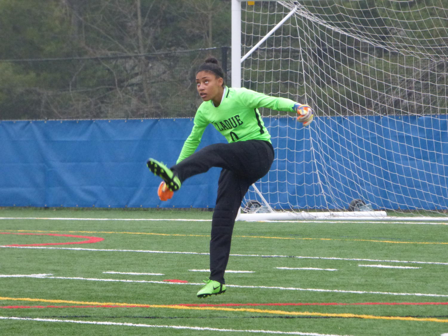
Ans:
<svg viewBox="0 0 448 336"><path fill-rule="evenodd" d="M188 327L188 326L171 326L159 324L142 324L142 323L124 323L124 322L109 322L109 321L81 321L81 320L62 320L62 319L41 319L41 318L27 318L15 316L0 316L0 319L21 320L21 321L39 321L39 322L62 322L62 323L79 323L79 324L97 324L107 326L126 326L126 327L146 327L146 328L170 328L170 329L187 329L198 331L213 331L213 332L251 332L260 334L283 334L283 335L304 335L304 336L341 336L334 334L319 334L316 332L281 332L277 330L238 330L238 329L221 329L211 327Z"/></svg>

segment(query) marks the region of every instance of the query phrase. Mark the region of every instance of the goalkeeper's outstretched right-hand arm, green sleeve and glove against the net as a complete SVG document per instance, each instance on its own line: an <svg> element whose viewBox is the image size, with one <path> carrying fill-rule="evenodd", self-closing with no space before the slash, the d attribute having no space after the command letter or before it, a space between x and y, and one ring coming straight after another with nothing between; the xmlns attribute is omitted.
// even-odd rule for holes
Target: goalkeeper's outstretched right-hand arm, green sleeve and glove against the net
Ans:
<svg viewBox="0 0 448 336"><path fill-rule="evenodd" d="M241 100L246 106L270 108L283 112L296 112L299 115L297 121L303 123L304 126L310 125L313 121L313 110L308 105L296 103L288 98L271 97L253 90L242 89L241 91L244 97Z"/></svg>

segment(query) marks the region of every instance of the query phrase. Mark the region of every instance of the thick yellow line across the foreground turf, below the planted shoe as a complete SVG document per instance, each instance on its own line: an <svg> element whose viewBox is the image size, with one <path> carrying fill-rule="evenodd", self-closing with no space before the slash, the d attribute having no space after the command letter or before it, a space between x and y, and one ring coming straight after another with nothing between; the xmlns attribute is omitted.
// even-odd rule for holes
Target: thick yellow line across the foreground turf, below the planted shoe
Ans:
<svg viewBox="0 0 448 336"><path fill-rule="evenodd" d="M48 300L36 299L30 297L0 297L2 301L28 301L28 302L48 302L48 303L71 303L75 305L92 305L92 306L135 306L144 308L168 308L180 310L220 310L233 312L251 312L261 314L281 314L281 315L298 315L298 316L323 316L323 317L343 317L343 318L357 318L357 319L381 319L381 320L398 320L398 321L420 321L420 322L439 322L448 323L448 319L436 318L416 318L410 316L377 316L367 314L351 314L351 313L315 313L309 311L285 311L285 310L268 310L255 308L228 308L228 307L192 307L181 305L144 305L138 303L123 303L123 302L86 302L86 301L72 301L72 300Z"/></svg>

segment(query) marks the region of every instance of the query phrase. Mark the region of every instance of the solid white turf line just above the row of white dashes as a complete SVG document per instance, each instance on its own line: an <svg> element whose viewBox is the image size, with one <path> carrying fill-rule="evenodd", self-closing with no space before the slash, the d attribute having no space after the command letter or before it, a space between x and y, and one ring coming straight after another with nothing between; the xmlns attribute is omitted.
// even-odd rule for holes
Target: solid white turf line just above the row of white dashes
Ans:
<svg viewBox="0 0 448 336"><path fill-rule="evenodd" d="M49 250L78 250L78 251L95 251L95 252L142 252L142 253L165 253L165 254L198 254L209 255L209 253L201 252L180 252L180 251L153 251L153 250L114 250L114 249L88 249L82 247L47 247L47 246L0 246L4 248L14 249L49 249ZM321 259L321 260L344 260L344 261L370 261L378 263L415 263L429 265L448 265L448 263L431 262L431 261L409 261L409 260L382 260L382 259L365 259L365 258L338 258L338 257L306 257L300 255L267 255L267 254L230 254L234 257L262 257L262 258L298 258L298 259Z"/></svg>

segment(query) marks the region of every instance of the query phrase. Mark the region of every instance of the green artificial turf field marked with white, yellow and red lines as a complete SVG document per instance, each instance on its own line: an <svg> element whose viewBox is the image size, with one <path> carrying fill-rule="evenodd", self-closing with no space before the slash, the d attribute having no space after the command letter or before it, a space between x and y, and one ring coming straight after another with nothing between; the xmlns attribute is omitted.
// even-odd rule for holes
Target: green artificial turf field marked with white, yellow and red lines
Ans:
<svg viewBox="0 0 448 336"><path fill-rule="evenodd" d="M211 212L0 217L2 336L448 333L448 220L237 222L199 299Z"/></svg>

